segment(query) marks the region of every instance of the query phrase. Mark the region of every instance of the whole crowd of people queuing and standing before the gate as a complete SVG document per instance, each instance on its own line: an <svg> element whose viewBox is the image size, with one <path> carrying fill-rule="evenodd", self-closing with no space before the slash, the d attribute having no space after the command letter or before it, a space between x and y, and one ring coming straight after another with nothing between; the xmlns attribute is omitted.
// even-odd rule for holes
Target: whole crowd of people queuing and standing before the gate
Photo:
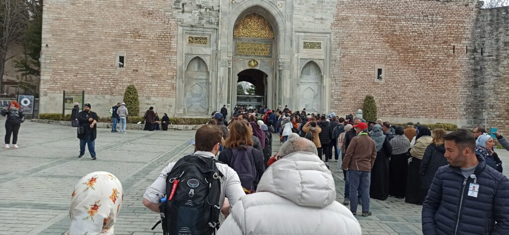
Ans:
<svg viewBox="0 0 509 235"><path fill-rule="evenodd" d="M125 104L112 109L125 133ZM6 148L11 133L17 148L23 113L13 101L1 114L10 130ZM167 126L165 117L159 120L149 108L145 128ZM473 134L447 133L288 107L236 107L227 117L225 106L213 112L196 131L193 153L164 167L144 193L143 204L161 216L164 234L361 234L358 204L362 216L371 216L370 198L389 196L423 205L424 234L509 234L509 180L482 126ZM78 158L88 145L95 160L97 114L84 104L81 112L73 110L72 121ZM492 134L509 151L509 141ZM273 135L282 142L275 155ZM335 200L332 161L343 171L349 209ZM82 178L72 193L69 234L114 234L122 200L122 185L111 173Z"/></svg>

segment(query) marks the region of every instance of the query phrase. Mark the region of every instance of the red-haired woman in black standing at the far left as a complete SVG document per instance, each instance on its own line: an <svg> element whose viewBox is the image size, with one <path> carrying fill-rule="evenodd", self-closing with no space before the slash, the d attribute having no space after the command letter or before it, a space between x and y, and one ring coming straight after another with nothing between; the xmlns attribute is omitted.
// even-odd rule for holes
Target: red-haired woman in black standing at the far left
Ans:
<svg viewBox="0 0 509 235"><path fill-rule="evenodd" d="M9 149L9 143L11 142L11 134L12 134L12 144L13 148L17 149L18 145L16 144L18 141L18 131L21 127L21 123L25 121L25 116L23 115L23 111L20 110L20 106L18 102L11 101L9 103L9 107L5 107L2 109L0 113L2 116L7 117L7 121L5 122L5 148Z"/></svg>

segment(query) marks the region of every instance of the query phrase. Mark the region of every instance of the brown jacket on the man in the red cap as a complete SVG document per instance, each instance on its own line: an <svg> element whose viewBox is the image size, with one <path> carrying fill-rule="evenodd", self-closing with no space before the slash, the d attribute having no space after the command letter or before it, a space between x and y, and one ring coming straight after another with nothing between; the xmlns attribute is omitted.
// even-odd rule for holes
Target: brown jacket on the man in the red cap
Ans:
<svg viewBox="0 0 509 235"><path fill-rule="evenodd" d="M367 134L357 135L348 145L343 159L343 169L371 171L376 157L375 141Z"/></svg>

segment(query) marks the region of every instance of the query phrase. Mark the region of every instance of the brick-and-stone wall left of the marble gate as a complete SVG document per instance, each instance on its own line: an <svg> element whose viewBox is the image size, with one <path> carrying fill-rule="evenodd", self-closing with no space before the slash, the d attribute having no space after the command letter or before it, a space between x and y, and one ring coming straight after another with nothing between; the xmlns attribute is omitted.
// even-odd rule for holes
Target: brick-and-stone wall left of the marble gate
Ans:
<svg viewBox="0 0 509 235"><path fill-rule="evenodd" d="M172 3L48 0L43 14L41 112L61 112L62 91L84 90L85 101L107 115L129 84L160 112L174 109L178 20Z"/></svg>

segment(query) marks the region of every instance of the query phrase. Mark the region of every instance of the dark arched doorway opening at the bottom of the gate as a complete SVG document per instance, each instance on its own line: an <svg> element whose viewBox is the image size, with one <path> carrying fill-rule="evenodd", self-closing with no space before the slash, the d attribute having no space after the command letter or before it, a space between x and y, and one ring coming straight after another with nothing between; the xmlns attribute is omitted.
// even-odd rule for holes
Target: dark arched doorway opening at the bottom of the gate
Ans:
<svg viewBox="0 0 509 235"><path fill-rule="evenodd" d="M243 82L252 84L252 88L246 87ZM266 94L266 73L257 69L246 69L237 74L237 105L257 108L265 106Z"/></svg>

